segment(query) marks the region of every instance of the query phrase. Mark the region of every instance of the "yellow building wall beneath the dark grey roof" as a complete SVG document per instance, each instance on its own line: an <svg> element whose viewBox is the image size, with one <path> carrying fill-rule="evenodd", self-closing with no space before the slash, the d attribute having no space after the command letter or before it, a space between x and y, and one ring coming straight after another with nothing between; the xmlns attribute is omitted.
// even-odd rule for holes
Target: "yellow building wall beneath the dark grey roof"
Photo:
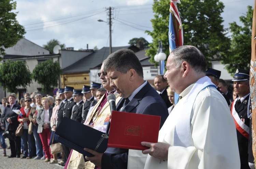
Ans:
<svg viewBox="0 0 256 169"><path fill-rule="evenodd" d="M61 87L73 87L74 89L82 89L83 86L90 86L90 76L88 73L63 74L61 75Z"/></svg>

